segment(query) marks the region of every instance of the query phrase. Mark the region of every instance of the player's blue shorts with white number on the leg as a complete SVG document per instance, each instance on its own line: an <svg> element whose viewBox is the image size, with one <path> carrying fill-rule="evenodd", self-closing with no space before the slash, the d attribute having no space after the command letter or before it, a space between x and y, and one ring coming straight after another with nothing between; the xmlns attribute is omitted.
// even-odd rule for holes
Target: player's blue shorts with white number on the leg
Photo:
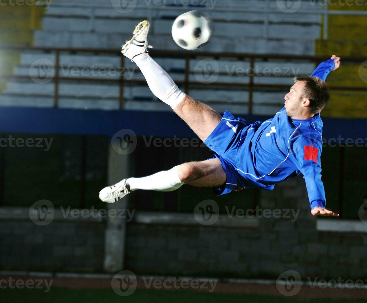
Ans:
<svg viewBox="0 0 367 303"><path fill-rule="evenodd" d="M214 194L224 195L232 190L243 190L247 188L247 184L243 177L236 170L236 152L240 144L240 138L243 130L250 123L243 118L236 118L226 111L223 114L221 122L212 131L204 144L213 150L213 158L221 161L222 167L226 172L226 183L222 186L212 187Z"/></svg>

